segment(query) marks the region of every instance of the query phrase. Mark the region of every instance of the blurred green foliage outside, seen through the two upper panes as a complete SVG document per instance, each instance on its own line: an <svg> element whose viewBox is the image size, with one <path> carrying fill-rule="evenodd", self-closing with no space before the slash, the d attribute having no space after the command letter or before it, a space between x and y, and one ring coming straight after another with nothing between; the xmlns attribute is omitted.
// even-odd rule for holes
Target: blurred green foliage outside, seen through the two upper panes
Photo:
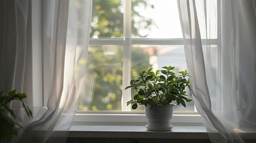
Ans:
<svg viewBox="0 0 256 143"><path fill-rule="evenodd" d="M140 29L150 30L155 25L153 20L140 15L135 7L141 5L154 8L147 0L132 1L132 35L135 37L146 37L138 31ZM92 26L90 38L124 37L124 0L93 0L92 2ZM137 17L137 21L134 18ZM134 25L138 24L139 27ZM143 23L143 24L142 24Z"/></svg>

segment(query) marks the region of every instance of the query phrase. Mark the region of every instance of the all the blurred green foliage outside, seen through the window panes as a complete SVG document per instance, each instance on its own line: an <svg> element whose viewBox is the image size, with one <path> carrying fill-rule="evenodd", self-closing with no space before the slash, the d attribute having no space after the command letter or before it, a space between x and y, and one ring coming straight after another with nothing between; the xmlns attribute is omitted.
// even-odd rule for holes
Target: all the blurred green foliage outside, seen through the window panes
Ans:
<svg viewBox="0 0 256 143"><path fill-rule="evenodd" d="M90 38L123 37L123 0L93 0L92 26ZM138 4L152 7L146 0L135 0L132 2L132 19L137 16L140 22L146 22L146 27L134 27L132 20L132 34L137 37L139 29L150 29L153 20L145 18L134 10ZM145 24L144 24L145 25ZM88 72L93 72L95 84L92 102L83 96L79 97L78 110L121 110L122 78L123 78L123 46L90 46L88 51ZM112 54L106 54L106 52ZM138 63L142 61L143 63ZM132 48L132 79L136 78L138 71L151 67L149 55L139 48ZM86 82L86 81L85 81ZM134 92L134 91L132 91ZM83 94L83 93L82 93ZM90 98L90 97L89 97ZM90 104L90 106L88 106Z"/></svg>

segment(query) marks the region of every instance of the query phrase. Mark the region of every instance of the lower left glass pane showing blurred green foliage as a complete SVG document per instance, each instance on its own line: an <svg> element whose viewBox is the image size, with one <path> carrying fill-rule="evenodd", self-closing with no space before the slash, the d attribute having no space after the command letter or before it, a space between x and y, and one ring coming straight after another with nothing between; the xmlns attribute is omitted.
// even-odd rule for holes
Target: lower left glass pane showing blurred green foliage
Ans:
<svg viewBox="0 0 256 143"><path fill-rule="evenodd" d="M78 110L121 111L123 46L90 46Z"/></svg>

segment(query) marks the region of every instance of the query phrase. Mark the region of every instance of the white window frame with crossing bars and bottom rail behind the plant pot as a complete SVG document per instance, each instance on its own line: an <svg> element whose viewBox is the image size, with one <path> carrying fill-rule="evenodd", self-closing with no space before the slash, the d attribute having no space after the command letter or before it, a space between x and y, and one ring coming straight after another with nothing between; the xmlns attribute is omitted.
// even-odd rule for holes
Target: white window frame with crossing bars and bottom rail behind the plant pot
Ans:
<svg viewBox="0 0 256 143"><path fill-rule="evenodd" d="M122 45L124 46L123 62L123 89L129 86L131 77L131 46L132 45L183 45L183 39L148 39L148 38L131 38L131 0L124 0L124 37L123 38L106 38L90 39L90 46L101 45ZM218 38L202 39L202 45L217 45L218 73L220 69L221 57L221 29L220 29L220 0L218 5ZM218 74L220 75L220 74ZM220 80L218 77L217 80ZM217 93L220 89L217 89ZM122 93L122 111L77 111L74 117L75 125L145 125L146 116L144 112L130 112L131 107L126 106L126 101L130 100L130 90L123 90ZM195 112L173 112L173 125L202 125L202 117L195 109Z"/></svg>

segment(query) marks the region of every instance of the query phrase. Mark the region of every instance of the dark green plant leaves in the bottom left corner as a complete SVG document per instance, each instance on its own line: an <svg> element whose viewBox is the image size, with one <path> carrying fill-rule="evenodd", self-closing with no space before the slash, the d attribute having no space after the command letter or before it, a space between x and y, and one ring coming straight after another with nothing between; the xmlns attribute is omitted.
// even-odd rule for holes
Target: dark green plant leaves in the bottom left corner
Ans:
<svg viewBox="0 0 256 143"><path fill-rule="evenodd" d="M14 118L16 117L8 103L12 100L20 100L22 106L25 108L27 115L32 117L32 112L27 104L22 100L27 97L25 93L16 93L16 90L9 92L8 96L2 95L3 91L0 92L0 142L9 142L13 135L18 135L18 128L22 128L21 125L14 122L9 116L10 113ZM24 130L24 128L22 128Z"/></svg>

